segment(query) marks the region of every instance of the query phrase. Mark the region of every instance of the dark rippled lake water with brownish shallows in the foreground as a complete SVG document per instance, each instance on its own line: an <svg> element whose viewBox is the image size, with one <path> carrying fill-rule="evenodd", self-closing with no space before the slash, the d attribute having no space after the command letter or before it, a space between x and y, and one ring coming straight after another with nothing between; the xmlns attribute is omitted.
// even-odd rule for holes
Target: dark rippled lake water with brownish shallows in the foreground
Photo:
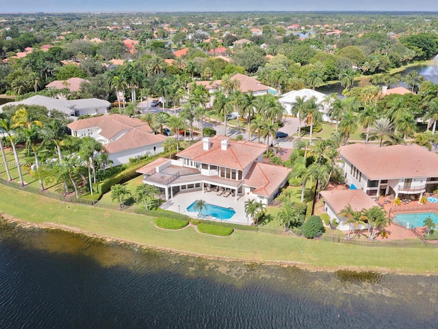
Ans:
<svg viewBox="0 0 438 329"><path fill-rule="evenodd" d="M0 328L437 328L437 291L0 227Z"/></svg>

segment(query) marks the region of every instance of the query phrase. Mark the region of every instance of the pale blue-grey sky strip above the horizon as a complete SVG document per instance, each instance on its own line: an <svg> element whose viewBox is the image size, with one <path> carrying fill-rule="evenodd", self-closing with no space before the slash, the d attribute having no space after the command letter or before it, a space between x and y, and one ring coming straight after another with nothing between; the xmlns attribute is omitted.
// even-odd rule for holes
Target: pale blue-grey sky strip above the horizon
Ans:
<svg viewBox="0 0 438 329"><path fill-rule="evenodd" d="M437 11L437 0L0 0L0 12Z"/></svg>

